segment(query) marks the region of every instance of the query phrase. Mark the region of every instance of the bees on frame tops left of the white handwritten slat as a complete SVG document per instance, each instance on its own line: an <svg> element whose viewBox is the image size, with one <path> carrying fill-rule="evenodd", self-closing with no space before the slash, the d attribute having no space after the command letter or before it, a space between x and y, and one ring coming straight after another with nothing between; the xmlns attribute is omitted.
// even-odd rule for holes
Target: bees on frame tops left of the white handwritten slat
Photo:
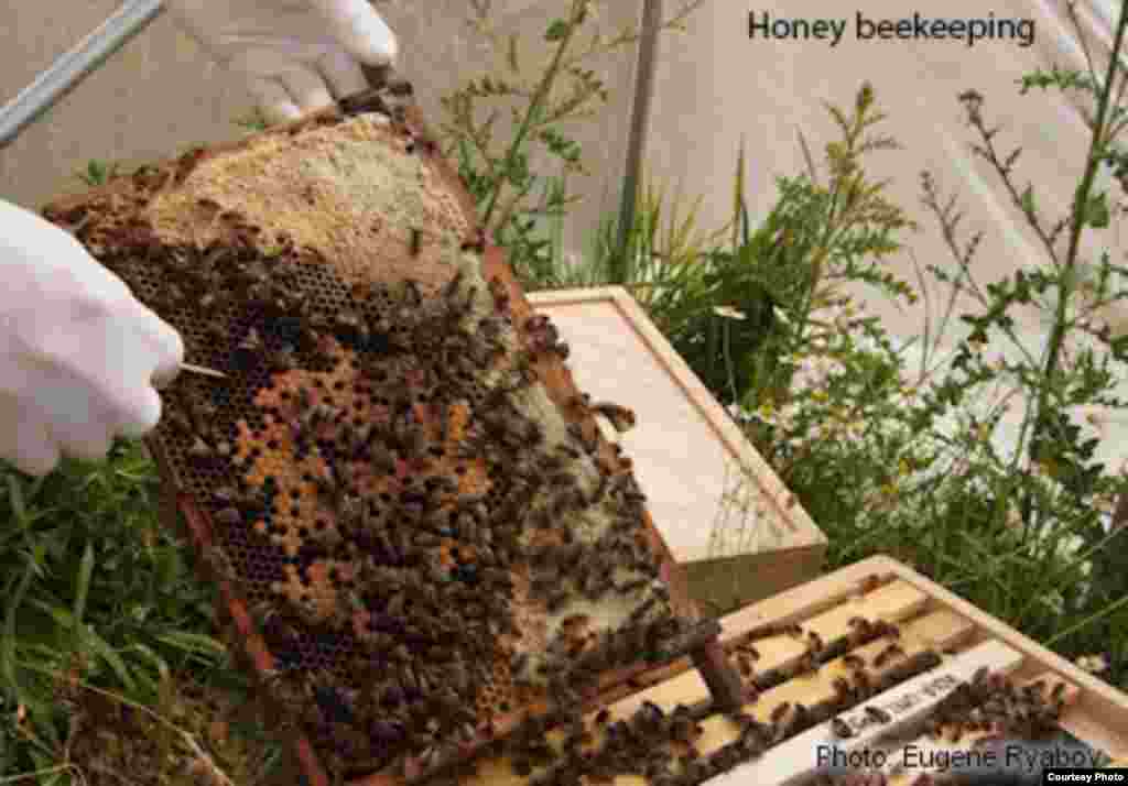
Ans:
<svg viewBox="0 0 1128 786"><path fill-rule="evenodd" d="M742 763L755 760L770 748L785 742L837 714L858 707L873 696L922 674L940 664L932 651L907 654L899 644L896 625L862 617L849 620L849 633L841 639L825 643L814 632L804 632L795 622L763 626L730 645L730 655L740 664L746 703L784 682L817 671L823 663L843 656L849 679L835 681L831 698L818 704L782 703L765 719L738 710L728 717L740 728L738 738L705 754L697 749L703 733L700 721L716 712L712 701L678 706L670 712L643 703L631 718L611 722L605 709L584 719L582 710L561 708L546 718L534 718L515 733L495 744L493 753L510 760L513 771L528 778L530 786L574 786L600 783L619 775L641 775L651 786L694 786ZM805 644L804 654L783 668L756 672L747 663L759 660L756 642L773 636L790 636ZM851 650L878 639L888 644L869 661L849 654ZM870 707L872 721L889 723L882 709ZM545 736L549 727L564 730L563 740L553 745ZM847 733L848 730L847 730ZM429 786L451 786L473 769L462 762L429 780Z"/></svg>

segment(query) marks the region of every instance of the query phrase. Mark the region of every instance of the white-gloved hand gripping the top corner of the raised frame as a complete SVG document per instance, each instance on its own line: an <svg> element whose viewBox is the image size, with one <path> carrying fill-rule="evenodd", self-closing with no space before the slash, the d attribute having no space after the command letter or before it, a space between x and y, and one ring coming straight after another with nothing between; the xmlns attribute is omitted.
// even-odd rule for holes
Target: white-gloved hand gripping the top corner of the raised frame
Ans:
<svg viewBox="0 0 1128 786"><path fill-rule="evenodd" d="M368 0L168 0L222 67L241 74L268 123L369 87L361 65L391 65L396 36Z"/></svg>

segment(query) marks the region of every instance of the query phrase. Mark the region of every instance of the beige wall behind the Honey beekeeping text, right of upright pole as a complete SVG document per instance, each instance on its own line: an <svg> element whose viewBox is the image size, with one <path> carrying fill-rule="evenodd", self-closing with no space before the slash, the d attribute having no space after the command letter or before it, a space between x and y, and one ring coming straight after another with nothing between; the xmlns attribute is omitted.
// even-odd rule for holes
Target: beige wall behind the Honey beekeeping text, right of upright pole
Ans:
<svg viewBox="0 0 1128 786"><path fill-rule="evenodd" d="M647 160L658 174L682 184L687 194L703 194L703 217L719 226L730 215L737 150L743 135L750 210L764 217L776 200L775 176L804 169L796 129L803 130L820 156L826 142L837 139L822 101L849 109L863 80L871 80L880 106L890 115L878 131L883 129L905 145L901 151L875 153L871 171L892 178L891 196L922 222L923 231L911 244L918 262L953 267L935 220L920 205L919 173L928 168L949 193L959 193L968 214L963 230L986 232L977 257L985 275L1031 264L1043 258L1038 242L1008 204L998 178L968 153L973 135L962 122L955 96L970 87L984 94L988 120L1004 126L998 136L1004 150L1025 149L1020 180L1049 186L1040 204L1057 219L1073 196L1073 178L1081 171L1087 136L1078 114L1060 94L1021 98L1015 80L1036 67L1048 68L1052 60L1083 67L1079 50L1060 37L1072 29L1061 18L1063 7L1060 0L988 5L976 0L915 5L902 0L713 0L690 21L687 36L661 42ZM990 10L996 18L1033 17L1036 44L1023 48L996 39L969 48L964 43L942 41L860 42L849 34L834 48L818 41L750 41L750 8L774 17L848 17L851 25L857 10L874 18L900 18L914 9L949 18L984 18ZM1108 240L1120 246L1114 237ZM901 275L914 276L908 255L891 264ZM902 316L878 306L900 332L918 328L919 310Z"/></svg>

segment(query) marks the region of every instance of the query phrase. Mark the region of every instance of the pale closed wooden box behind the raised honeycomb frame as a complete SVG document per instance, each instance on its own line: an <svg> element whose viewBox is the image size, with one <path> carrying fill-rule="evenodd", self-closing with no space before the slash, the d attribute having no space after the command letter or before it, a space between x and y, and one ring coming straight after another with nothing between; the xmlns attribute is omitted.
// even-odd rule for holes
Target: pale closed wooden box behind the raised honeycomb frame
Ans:
<svg viewBox="0 0 1128 786"><path fill-rule="evenodd" d="M572 346L578 385L635 410L619 442L702 608L740 608L819 574L826 536L626 290L529 302Z"/></svg>

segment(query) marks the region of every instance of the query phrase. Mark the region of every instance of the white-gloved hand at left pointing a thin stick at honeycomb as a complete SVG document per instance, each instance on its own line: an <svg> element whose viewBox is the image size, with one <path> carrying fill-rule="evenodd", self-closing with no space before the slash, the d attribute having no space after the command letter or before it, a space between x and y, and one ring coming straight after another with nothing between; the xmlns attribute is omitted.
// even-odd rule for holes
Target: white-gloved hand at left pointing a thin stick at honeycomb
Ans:
<svg viewBox="0 0 1128 786"><path fill-rule="evenodd" d="M160 420L180 335L64 230L0 201L0 458L45 475Z"/></svg>

